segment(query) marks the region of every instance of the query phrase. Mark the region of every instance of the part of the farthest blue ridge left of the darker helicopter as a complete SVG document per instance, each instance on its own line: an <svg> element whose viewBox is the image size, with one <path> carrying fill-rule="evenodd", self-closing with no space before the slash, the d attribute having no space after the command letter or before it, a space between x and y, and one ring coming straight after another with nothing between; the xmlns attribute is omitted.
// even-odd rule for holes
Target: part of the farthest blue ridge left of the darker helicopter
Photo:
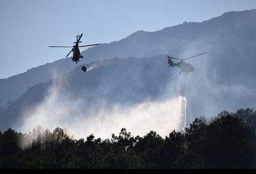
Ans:
<svg viewBox="0 0 256 174"><path fill-rule="evenodd" d="M0 106L4 104L7 106L10 105L9 101L15 101L27 91L28 87L64 75L75 67L76 65L70 63L69 59L60 59L28 69L25 73L0 79Z"/></svg>

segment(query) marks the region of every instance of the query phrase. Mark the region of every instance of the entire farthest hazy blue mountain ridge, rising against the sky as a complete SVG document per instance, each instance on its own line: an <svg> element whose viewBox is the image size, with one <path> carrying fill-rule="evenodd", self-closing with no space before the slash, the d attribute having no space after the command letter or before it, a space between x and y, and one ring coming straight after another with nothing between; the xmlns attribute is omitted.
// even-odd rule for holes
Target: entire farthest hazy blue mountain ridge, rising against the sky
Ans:
<svg viewBox="0 0 256 174"><path fill-rule="evenodd" d="M230 76L236 73L236 82L244 83L246 79L243 76L251 79L255 75L251 71L256 66L255 17L256 10L231 11L204 22L184 22L156 32L137 31L120 41L88 48L82 53L85 59L81 63L112 57L151 57L161 54L189 57L198 52L207 52L211 56L211 60L207 59L207 62L211 62L207 68L214 76L230 81ZM65 74L76 66L70 63L70 59L60 59L20 75L0 79L0 106L15 101L28 87L47 82L52 76ZM255 87L254 82L249 85Z"/></svg>

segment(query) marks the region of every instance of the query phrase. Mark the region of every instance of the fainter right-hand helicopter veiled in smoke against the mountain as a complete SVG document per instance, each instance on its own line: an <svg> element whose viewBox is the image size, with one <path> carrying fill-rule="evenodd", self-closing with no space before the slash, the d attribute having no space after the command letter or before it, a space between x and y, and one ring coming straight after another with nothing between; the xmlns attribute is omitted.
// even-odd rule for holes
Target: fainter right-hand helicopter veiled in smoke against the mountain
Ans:
<svg viewBox="0 0 256 174"><path fill-rule="evenodd" d="M206 52L204 52L202 54L206 54ZM198 55L202 55L202 54L198 54ZM167 57L168 57L168 64L169 64L168 67L172 66L172 68L173 68L173 67L177 66L177 67L179 67L181 69L179 74L180 75L186 75L186 74L188 74L191 71L195 71L195 69L194 69L192 64L186 63L186 62L184 62L184 60L191 59L191 58L196 57L198 55L194 55L192 57L188 57L188 58L185 58L185 59L178 59L178 58L170 57L169 55L167 55ZM180 62L174 63L172 61L172 59L178 59L178 60L180 60Z"/></svg>

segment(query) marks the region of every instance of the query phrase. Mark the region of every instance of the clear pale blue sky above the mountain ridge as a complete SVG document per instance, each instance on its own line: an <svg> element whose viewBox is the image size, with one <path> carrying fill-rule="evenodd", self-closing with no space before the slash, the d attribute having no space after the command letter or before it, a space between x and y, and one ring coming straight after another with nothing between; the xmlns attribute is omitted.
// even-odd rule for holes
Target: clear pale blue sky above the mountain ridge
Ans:
<svg viewBox="0 0 256 174"><path fill-rule="evenodd" d="M65 58L68 48L48 46L72 46L77 34L84 45L110 43L138 30L252 9L255 0L1 0L0 78Z"/></svg>

